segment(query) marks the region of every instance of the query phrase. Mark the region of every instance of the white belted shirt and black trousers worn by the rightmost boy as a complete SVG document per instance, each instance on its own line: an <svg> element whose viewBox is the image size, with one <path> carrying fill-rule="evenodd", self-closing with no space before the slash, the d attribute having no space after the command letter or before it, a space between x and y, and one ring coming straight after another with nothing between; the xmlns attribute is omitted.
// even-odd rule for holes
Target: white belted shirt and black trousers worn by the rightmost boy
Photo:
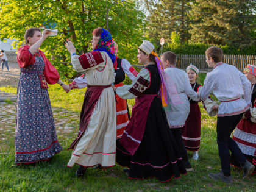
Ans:
<svg viewBox="0 0 256 192"><path fill-rule="evenodd" d="M251 105L251 84L235 66L219 62L213 71L207 73L199 96L205 100L210 93L221 102L217 115L217 143L222 174L229 177L229 150L235 154L241 166L246 163L246 158L230 134L242 118L243 112ZM209 174L209 176L217 177L217 174Z"/></svg>

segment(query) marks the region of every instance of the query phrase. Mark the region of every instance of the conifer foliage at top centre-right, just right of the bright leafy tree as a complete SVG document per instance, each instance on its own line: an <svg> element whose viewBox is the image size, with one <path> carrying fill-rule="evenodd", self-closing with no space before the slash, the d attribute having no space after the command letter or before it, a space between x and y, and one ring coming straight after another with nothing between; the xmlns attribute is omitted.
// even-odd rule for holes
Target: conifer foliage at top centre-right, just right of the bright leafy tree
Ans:
<svg viewBox="0 0 256 192"><path fill-rule="evenodd" d="M171 32L180 34L180 41L184 43L190 38L190 10L192 1L177 0L144 0L150 15L148 36L154 40L164 37L171 41Z"/></svg>

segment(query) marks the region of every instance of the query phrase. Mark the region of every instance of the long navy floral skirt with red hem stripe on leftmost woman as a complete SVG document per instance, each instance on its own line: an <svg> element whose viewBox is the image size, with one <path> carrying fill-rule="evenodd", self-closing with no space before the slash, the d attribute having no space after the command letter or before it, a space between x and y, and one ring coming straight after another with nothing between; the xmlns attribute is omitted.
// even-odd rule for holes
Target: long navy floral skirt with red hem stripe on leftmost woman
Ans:
<svg viewBox="0 0 256 192"><path fill-rule="evenodd" d="M17 94L15 163L48 160L60 151L62 147L57 140L48 90L40 87L38 73L21 73Z"/></svg>

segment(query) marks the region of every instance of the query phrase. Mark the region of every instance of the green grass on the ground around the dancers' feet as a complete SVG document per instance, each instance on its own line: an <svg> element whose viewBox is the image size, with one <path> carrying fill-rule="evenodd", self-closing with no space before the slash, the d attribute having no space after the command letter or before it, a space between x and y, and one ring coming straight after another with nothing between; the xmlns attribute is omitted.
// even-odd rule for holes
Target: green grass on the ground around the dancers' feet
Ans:
<svg viewBox="0 0 256 192"><path fill-rule="evenodd" d="M0 90L16 93L16 88L0 87ZM49 162L40 162L37 166L16 166L14 134L15 119L0 124L0 189L1 191L255 191L256 177L241 178L238 169L232 168L233 183L228 185L210 179L209 172L219 172L220 162L216 144L216 117L210 118L201 105L202 133L199 160L191 164L194 171L188 172L179 180L160 183L156 179L129 180L121 166L94 170L89 168L87 176L74 178L77 166L67 168L71 157L67 151L69 144L76 137L79 120L72 118L79 115L84 99L85 89L71 90L68 94L59 85L49 86L49 96L54 111L55 121L68 119L66 123L74 126L70 133L58 133L63 151L55 155ZM5 103L5 109L15 110L15 104ZM134 100L129 100L129 108ZM1 105L0 105L1 106ZM2 111L0 111L2 112ZM7 113L4 118L13 115ZM1 119L0 119L1 121ZM9 122L9 123L8 123ZM10 128L8 128L10 126ZM7 131L7 129L10 129ZM191 159L192 153L189 152Z"/></svg>

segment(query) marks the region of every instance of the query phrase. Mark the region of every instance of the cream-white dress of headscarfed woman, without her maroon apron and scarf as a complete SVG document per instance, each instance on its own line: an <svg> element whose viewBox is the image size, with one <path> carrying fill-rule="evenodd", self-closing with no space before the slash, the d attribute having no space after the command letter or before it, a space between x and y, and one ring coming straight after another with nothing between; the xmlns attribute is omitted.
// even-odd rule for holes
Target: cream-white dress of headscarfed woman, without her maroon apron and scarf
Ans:
<svg viewBox="0 0 256 192"><path fill-rule="evenodd" d="M106 52L98 52L98 54L101 54L104 62L97 63L96 58L91 53L85 54L88 63L81 63L78 55L74 55L71 58L73 68L76 71L85 71L87 91L90 89L90 86L112 85L115 80L112 60ZM98 164L101 164L102 167L114 166L116 152L116 107L113 88L103 88L84 133L81 133L81 121L86 121L87 119L82 118L81 116L80 137L76 138L77 142L74 144L74 151L68 166L72 167L75 163L82 166Z"/></svg>

